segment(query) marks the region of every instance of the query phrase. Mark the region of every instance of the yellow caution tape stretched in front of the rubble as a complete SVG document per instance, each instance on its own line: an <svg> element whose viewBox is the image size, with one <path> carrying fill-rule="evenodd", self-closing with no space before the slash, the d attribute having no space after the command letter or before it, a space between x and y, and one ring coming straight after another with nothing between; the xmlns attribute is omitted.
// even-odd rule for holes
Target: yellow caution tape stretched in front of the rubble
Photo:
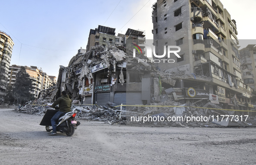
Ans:
<svg viewBox="0 0 256 165"><path fill-rule="evenodd" d="M211 110L230 110L230 109L219 109L219 108L172 106L172 105L118 105L116 107L120 107L120 106L126 106L126 107L187 107L187 108L202 108L202 109L211 109ZM230 110L230 111L256 112L255 110Z"/></svg>

